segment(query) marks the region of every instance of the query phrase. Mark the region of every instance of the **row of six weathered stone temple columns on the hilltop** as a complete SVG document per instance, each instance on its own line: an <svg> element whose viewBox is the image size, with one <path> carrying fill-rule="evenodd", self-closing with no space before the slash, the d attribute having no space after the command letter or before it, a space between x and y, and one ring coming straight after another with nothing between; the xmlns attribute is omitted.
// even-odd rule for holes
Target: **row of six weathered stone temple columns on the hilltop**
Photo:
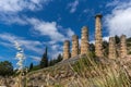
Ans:
<svg viewBox="0 0 131 87"><path fill-rule="evenodd" d="M102 34L102 14L95 16L95 55L98 58L104 57L103 52L103 34ZM66 40L63 44L63 59L74 58L80 54L90 53L90 42L88 42L88 28L86 26L82 27L81 35L81 46L79 48L79 37L76 35L72 36L72 51L70 53L70 41ZM70 55L71 54L71 55ZM120 38L120 48L116 46L115 37L109 38L108 58L116 59L117 57L127 57L127 42L126 35Z"/></svg>

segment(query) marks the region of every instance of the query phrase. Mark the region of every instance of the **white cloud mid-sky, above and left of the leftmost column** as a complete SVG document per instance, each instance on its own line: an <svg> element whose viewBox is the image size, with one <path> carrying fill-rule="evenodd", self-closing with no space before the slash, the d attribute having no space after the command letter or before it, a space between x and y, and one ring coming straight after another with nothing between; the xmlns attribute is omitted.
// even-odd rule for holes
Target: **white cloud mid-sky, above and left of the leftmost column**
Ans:
<svg viewBox="0 0 131 87"><path fill-rule="evenodd" d="M38 32L41 36L48 36L51 42L63 41L74 34L71 28L67 28L67 36L64 36L63 33L59 32L59 25L56 22L45 22L34 17L26 20L34 30Z"/></svg>

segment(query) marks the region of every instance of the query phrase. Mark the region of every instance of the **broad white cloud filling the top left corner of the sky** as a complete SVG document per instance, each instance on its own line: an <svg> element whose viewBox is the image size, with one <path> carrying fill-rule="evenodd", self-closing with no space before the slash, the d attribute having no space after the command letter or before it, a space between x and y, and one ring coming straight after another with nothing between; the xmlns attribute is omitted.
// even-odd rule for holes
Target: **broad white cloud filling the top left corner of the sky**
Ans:
<svg viewBox="0 0 131 87"><path fill-rule="evenodd" d="M27 11L38 11L45 9L52 0L0 0L0 21L5 24L20 23L26 24L21 18Z"/></svg>

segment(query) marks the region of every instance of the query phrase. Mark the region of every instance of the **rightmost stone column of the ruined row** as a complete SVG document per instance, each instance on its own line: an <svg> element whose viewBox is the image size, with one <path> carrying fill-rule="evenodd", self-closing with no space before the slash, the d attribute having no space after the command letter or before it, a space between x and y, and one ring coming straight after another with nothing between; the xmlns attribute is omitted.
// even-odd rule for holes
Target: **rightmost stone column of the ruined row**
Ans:
<svg viewBox="0 0 131 87"><path fill-rule="evenodd" d="M120 58L124 58L127 53L127 41L126 41L126 35L122 35L120 37Z"/></svg>

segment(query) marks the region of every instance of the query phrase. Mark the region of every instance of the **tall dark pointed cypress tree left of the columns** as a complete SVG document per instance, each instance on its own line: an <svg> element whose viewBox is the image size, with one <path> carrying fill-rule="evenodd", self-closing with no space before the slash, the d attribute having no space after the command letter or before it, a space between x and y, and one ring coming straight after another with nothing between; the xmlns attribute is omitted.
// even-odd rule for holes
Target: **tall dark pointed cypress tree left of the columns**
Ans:
<svg viewBox="0 0 131 87"><path fill-rule="evenodd" d="M40 67L47 67L48 66L48 55L47 55L47 47L45 49L45 52L43 54L41 61L40 61Z"/></svg>

